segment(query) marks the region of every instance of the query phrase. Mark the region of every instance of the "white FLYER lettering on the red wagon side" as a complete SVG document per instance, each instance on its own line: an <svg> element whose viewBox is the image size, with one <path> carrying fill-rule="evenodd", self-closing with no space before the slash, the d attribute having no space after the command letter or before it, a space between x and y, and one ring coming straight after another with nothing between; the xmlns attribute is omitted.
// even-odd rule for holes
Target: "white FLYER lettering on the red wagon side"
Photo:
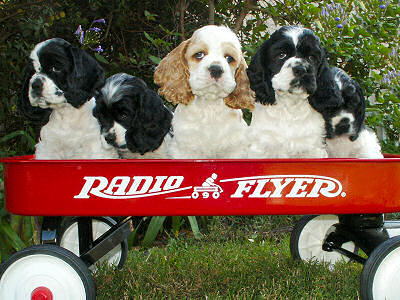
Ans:
<svg viewBox="0 0 400 300"><path fill-rule="evenodd" d="M318 175L271 175L223 179L237 182L231 198L327 198L346 196L340 181Z"/></svg>

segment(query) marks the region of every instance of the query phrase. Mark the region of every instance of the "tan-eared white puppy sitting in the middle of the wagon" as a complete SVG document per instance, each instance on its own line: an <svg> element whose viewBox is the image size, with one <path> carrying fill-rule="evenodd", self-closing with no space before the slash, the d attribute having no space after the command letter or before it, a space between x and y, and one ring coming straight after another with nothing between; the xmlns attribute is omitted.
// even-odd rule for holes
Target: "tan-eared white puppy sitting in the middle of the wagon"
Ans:
<svg viewBox="0 0 400 300"><path fill-rule="evenodd" d="M172 120L173 158L240 158L247 152L241 108L253 108L246 62L236 35L208 25L158 65L159 93L177 104Z"/></svg>

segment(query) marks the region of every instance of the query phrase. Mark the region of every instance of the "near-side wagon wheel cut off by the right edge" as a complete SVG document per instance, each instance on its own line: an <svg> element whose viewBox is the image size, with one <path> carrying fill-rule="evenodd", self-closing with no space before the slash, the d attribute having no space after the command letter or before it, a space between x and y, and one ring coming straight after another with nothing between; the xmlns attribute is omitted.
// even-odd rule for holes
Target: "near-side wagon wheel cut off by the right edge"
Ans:
<svg viewBox="0 0 400 300"><path fill-rule="evenodd" d="M363 300L395 300L400 295L400 236L380 244L371 255L360 276Z"/></svg>

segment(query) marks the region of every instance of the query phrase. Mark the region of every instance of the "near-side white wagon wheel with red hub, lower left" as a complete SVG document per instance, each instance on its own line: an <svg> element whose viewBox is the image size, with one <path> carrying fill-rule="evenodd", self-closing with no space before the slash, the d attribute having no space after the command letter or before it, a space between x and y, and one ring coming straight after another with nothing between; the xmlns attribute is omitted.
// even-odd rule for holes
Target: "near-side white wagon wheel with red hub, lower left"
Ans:
<svg viewBox="0 0 400 300"><path fill-rule="evenodd" d="M95 300L93 277L83 261L55 245L14 253L0 266L0 299Z"/></svg>

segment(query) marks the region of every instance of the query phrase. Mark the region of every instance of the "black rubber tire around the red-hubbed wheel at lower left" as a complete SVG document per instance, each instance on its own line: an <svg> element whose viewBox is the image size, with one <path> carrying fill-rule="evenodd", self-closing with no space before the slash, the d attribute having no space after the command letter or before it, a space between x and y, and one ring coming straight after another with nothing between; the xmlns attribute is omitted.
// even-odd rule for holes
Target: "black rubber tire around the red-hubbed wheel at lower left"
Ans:
<svg viewBox="0 0 400 300"><path fill-rule="evenodd" d="M0 281L3 274L13 263L28 256L43 254L57 257L66 262L69 266L71 266L82 281L82 284L85 288L86 300L96 299L96 285L88 267L79 257L73 254L71 251L68 251L67 249L61 248L56 245L37 245L25 248L14 253L10 256L8 260L0 265Z"/></svg>

